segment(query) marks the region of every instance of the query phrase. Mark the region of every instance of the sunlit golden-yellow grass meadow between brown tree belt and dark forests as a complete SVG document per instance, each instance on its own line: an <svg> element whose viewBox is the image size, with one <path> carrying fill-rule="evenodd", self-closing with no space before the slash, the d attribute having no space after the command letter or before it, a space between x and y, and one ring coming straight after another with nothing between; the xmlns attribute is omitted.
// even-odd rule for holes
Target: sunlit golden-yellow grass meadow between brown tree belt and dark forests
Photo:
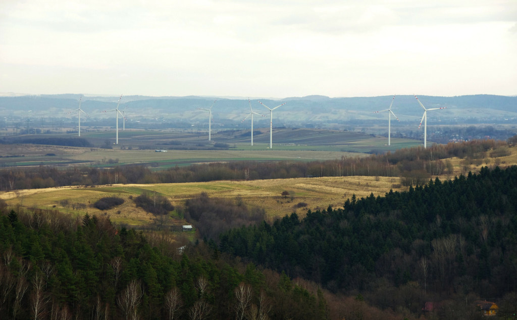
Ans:
<svg viewBox="0 0 517 320"><path fill-rule="evenodd" d="M454 173L439 178L446 180L464 174L468 171L477 172L482 166L501 167L517 164L517 148L510 148L511 155L499 158L485 158L477 163L469 163L465 159L452 158ZM171 184L126 184L99 187L56 187L47 189L20 190L16 192L0 193L0 198L6 200L10 206L36 207L58 209L70 214L107 215L115 223L130 225L146 225L153 223L154 215L136 208L130 197L143 192L159 193L170 199L174 206L183 206L186 199L195 197L202 192L210 197L236 198L240 197L247 206L261 207L266 210L269 219L297 212L303 216L308 209L326 209L329 205L337 208L343 206L345 200L353 194L356 197L366 197L373 193L383 196L393 191L404 191L407 187L401 186L400 178L396 177L323 177L323 178L295 178L254 181L213 181L200 183L171 183ZM290 195L282 196L287 191ZM114 209L100 211L90 205L96 200L117 196L125 199L125 203ZM60 201L67 199L69 206L63 207ZM306 207L296 208L300 202L307 203ZM74 209L73 203L86 206L83 209ZM184 223L178 220L176 224Z"/></svg>

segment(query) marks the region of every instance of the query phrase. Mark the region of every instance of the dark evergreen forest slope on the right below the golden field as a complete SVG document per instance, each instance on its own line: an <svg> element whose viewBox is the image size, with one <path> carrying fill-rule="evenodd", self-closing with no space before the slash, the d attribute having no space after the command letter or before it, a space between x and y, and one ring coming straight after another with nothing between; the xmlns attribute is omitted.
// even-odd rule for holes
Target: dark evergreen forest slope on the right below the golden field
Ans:
<svg viewBox="0 0 517 320"><path fill-rule="evenodd" d="M425 301L515 297L515 212L517 167L484 167L407 192L353 196L343 208L309 211L303 219L293 213L232 229L221 235L220 248L418 316Z"/></svg>

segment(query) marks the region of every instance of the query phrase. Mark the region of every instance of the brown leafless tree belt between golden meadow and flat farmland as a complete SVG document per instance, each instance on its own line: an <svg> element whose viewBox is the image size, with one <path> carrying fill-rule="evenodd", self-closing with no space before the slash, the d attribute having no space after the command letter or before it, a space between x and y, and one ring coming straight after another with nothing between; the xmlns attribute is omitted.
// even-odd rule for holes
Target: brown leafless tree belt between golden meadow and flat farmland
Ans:
<svg viewBox="0 0 517 320"><path fill-rule="evenodd" d="M393 153L369 157L343 157L338 160L315 162L256 162L239 161L175 167L151 171L139 166L117 166L113 169L72 167L9 168L0 171L0 190L44 188L65 185L103 185L113 183L177 183L214 180L258 180L303 177L379 176L402 177L402 183L425 183L431 176L452 174L452 164L444 159L464 159L465 170L470 165L493 163L497 157L509 155L508 144L495 140L475 140L462 143L435 144L423 149L400 149ZM495 158L492 161L492 158Z"/></svg>

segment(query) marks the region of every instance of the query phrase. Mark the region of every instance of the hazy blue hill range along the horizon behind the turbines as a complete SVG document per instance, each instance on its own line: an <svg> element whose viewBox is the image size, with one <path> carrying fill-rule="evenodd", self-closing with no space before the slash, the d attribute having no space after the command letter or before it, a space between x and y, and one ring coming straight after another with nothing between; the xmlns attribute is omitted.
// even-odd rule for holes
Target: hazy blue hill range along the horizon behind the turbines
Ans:
<svg viewBox="0 0 517 320"><path fill-rule="evenodd" d="M65 117L67 112L78 108L79 94L3 96L0 97L0 116L3 117ZM103 110L114 109L119 96L84 96L82 109L94 118L110 118L111 114ZM202 122L207 118L206 111L196 108L209 108L216 97L149 97L123 96L120 109L125 109L128 117L163 118L184 122ZM497 95L466 95L453 97L419 96L427 108L446 107L433 111L428 122L462 123L484 122L501 123L517 119L517 97ZM376 97L342 97L330 98L321 95L306 97L290 97L281 100L261 99L261 102L272 108L282 103L284 106L274 112L276 124L312 123L329 124L344 121L364 121L383 119L383 115L373 111L387 109L392 96ZM269 110L251 100L254 111L269 116ZM422 108L412 95L396 96L392 106L393 112L401 122L415 122L422 117ZM212 108L214 122L240 122L249 112L248 98L217 98ZM260 117L257 117L260 118ZM268 117L267 117L268 118ZM268 124L269 119L257 119Z"/></svg>

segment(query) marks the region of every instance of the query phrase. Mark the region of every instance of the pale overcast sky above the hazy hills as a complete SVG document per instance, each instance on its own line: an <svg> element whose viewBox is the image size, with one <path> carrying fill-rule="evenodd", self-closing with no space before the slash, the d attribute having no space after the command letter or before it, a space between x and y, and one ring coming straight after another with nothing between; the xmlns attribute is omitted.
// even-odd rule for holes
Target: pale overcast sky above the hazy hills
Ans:
<svg viewBox="0 0 517 320"><path fill-rule="evenodd" d="M517 95L517 1L2 0L0 92Z"/></svg>

